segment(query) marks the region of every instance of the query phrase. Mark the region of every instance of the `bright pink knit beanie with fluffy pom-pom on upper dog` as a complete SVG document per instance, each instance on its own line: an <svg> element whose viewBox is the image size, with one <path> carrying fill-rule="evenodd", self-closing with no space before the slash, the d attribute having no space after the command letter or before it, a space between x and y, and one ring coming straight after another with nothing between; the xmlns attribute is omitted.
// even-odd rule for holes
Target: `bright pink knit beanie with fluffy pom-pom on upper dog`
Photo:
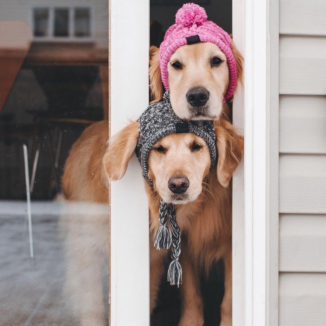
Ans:
<svg viewBox="0 0 326 326"><path fill-rule="evenodd" d="M225 54L230 71L230 83L225 99L230 98L237 83L237 67L231 50L231 38L221 27L208 21L205 9L194 3L187 3L178 10L175 24L167 30L160 45L159 61L165 89L169 89L168 63L172 54L185 44L198 42L214 43Z"/></svg>

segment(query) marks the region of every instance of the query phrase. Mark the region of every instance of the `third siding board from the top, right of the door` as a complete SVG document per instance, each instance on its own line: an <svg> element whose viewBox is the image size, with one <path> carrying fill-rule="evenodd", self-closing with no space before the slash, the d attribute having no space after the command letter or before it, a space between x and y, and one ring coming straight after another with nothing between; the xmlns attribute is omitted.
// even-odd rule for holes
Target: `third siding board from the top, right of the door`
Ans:
<svg viewBox="0 0 326 326"><path fill-rule="evenodd" d="M280 153L326 154L326 97L280 96L279 128Z"/></svg>

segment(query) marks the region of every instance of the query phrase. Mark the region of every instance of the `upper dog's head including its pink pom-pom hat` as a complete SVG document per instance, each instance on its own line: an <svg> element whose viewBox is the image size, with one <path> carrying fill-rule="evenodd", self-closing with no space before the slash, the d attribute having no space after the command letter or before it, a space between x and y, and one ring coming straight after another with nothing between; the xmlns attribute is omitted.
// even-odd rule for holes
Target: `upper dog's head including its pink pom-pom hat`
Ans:
<svg viewBox="0 0 326 326"><path fill-rule="evenodd" d="M242 63L232 36L208 21L204 8L187 3L176 13L159 49L150 48L152 103L162 99L165 89L182 119L227 118L225 103L241 81Z"/></svg>

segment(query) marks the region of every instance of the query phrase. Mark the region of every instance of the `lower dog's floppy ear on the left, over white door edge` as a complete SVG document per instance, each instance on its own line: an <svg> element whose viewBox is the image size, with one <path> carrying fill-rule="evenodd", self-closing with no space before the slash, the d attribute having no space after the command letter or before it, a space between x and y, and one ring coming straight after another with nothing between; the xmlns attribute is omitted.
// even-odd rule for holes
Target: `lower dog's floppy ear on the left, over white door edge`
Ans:
<svg viewBox="0 0 326 326"><path fill-rule="evenodd" d="M139 122L132 122L108 141L103 166L110 181L121 179L138 141Z"/></svg>

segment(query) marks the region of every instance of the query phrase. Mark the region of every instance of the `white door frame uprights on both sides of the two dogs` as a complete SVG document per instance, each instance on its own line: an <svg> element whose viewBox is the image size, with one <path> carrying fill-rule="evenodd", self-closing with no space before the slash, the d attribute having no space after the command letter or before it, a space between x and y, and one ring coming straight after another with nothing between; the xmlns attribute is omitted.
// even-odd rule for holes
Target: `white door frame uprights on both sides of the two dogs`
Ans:
<svg viewBox="0 0 326 326"><path fill-rule="evenodd" d="M148 104L149 0L111 0L111 133ZM233 0L244 89L233 105L233 325L278 324L278 1ZM132 186L131 186L132 185ZM127 204L126 204L127 199ZM134 159L111 183L111 325L149 326L148 207Z"/></svg>

